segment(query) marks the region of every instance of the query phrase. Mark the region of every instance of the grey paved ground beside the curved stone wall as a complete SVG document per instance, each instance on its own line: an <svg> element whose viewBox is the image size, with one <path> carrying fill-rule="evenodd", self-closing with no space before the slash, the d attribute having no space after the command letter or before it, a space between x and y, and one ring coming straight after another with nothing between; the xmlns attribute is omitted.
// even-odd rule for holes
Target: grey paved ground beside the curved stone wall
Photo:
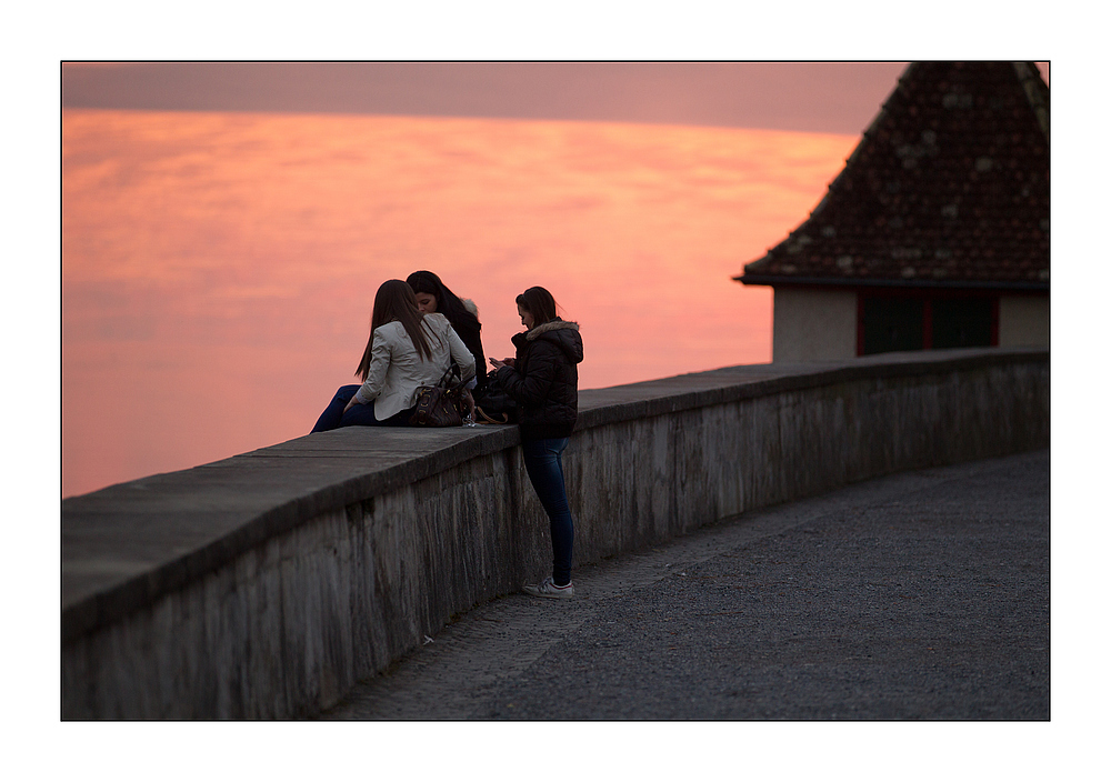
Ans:
<svg viewBox="0 0 1111 782"><path fill-rule="evenodd" d="M1048 720L1049 453L747 513L470 611L324 719Z"/></svg>

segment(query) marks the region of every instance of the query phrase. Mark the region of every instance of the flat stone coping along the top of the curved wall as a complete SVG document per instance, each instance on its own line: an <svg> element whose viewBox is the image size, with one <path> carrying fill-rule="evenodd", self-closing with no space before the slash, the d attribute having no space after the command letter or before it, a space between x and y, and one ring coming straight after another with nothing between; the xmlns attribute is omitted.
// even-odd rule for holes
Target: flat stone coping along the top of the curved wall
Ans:
<svg viewBox="0 0 1111 782"><path fill-rule="evenodd" d="M575 430L815 385L1049 360L1045 349L769 363L580 391ZM61 503L62 643L151 604L329 511L520 443L516 425L308 434Z"/></svg>

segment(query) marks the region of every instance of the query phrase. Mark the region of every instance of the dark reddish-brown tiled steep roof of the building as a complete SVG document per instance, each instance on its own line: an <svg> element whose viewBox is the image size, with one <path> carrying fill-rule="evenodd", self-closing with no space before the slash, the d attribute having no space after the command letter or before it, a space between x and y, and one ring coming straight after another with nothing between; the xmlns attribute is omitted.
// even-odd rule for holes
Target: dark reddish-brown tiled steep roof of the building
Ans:
<svg viewBox="0 0 1111 782"><path fill-rule="evenodd" d="M915 62L749 284L1049 290L1049 87L1028 62Z"/></svg>

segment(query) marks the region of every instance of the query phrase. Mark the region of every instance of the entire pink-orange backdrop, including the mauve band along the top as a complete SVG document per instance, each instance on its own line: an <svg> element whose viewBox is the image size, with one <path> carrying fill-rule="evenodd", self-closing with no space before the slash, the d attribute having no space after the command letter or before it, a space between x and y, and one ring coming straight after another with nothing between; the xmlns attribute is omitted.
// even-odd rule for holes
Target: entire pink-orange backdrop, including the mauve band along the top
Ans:
<svg viewBox="0 0 1111 782"><path fill-rule="evenodd" d="M303 434L416 269L498 358L550 288L583 389L769 361L771 292L731 278L904 68L66 63L63 495Z"/></svg>

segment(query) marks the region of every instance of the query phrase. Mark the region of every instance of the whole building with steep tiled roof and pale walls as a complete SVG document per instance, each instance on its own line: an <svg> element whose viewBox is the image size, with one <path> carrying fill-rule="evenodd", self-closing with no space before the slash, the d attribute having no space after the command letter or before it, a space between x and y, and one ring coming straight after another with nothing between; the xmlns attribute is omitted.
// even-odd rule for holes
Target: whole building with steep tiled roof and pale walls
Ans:
<svg viewBox="0 0 1111 782"><path fill-rule="evenodd" d="M734 278L772 358L1049 344L1049 87L1032 62L915 62L810 217Z"/></svg>

